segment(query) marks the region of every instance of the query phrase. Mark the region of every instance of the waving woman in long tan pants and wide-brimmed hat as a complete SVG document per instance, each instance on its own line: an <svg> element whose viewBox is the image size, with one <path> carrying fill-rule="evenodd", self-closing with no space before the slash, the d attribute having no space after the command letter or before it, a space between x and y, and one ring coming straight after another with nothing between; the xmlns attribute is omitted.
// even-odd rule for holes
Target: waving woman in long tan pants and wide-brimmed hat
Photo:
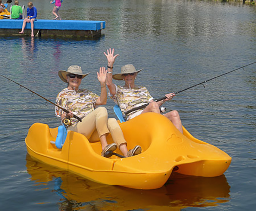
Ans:
<svg viewBox="0 0 256 211"><path fill-rule="evenodd" d="M55 115L61 119L70 118L71 126L67 128L68 131L79 132L85 135L90 142L101 141L102 156L107 151L116 150L117 146L125 157L139 154L141 153L140 146L136 146L128 152L127 143L117 120L108 119L108 112L105 107L97 107L105 105L107 102L106 73L105 67L101 67L97 72L98 81L101 85L101 94L98 96L88 89L79 89L82 79L89 74L84 74L80 66L72 65L67 71L60 70L58 75L62 81L67 83L67 88L58 94L56 104L69 110L70 113L65 113L55 107ZM80 117L82 122L75 119L74 114ZM108 144L106 140L110 132L114 141L112 144Z"/></svg>

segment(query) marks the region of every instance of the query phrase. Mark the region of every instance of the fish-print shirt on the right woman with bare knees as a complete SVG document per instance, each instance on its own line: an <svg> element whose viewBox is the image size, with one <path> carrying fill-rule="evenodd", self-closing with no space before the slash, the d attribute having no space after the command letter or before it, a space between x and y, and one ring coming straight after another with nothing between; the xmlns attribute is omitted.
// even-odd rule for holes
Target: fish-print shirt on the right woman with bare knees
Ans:
<svg viewBox="0 0 256 211"><path fill-rule="evenodd" d="M120 107L123 116L126 120L132 119L131 115L140 110L133 111L128 115L125 115L124 112L131 110L133 108L139 107L149 101L153 100L151 95L148 92L148 89L145 86L136 86L135 88L124 88L120 85L115 85L116 94L112 96L110 93L109 97Z"/></svg>

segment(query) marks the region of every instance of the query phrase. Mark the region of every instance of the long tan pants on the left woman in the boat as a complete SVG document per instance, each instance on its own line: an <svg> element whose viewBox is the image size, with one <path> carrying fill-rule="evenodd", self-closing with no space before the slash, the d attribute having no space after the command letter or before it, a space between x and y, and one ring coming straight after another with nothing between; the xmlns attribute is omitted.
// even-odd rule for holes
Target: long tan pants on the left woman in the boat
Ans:
<svg viewBox="0 0 256 211"><path fill-rule="evenodd" d="M85 135L90 142L99 141L101 135L108 135L111 132L113 141L118 147L120 144L126 143L117 120L114 118L108 119L108 111L105 107L96 108L87 114L82 119L82 122L69 126L67 130Z"/></svg>

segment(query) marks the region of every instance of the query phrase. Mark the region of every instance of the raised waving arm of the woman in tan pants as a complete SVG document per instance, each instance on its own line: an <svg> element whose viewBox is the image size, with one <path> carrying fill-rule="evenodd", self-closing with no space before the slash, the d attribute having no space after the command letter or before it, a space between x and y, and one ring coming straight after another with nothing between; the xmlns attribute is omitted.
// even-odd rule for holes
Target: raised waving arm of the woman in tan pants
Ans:
<svg viewBox="0 0 256 211"><path fill-rule="evenodd" d="M105 67L101 67L99 72L97 72L98 81L101 84L101 94L96 100L96 105L105 105L107 103L107 88L106 79L107 71Z"/></svg>

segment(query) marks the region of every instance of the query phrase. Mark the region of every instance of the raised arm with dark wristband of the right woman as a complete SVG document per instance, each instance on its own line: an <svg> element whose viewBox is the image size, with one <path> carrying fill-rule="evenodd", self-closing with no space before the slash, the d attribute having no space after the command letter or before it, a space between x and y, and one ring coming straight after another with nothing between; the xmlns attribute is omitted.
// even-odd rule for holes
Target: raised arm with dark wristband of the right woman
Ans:
<svg viewBox="0 0 256 211"><path fill-rule="evenodd" d="M107 86L109 88L111 95L114 96L116 94L116 87L112 81L113 65L114 65L116 57L119 56L119 54L116 54L114 56L114 48L112 50L111 50L111 48L109 48L109 50L107 50L107 54L105 52L104 52L104 54L108 59Z"/></svg>

